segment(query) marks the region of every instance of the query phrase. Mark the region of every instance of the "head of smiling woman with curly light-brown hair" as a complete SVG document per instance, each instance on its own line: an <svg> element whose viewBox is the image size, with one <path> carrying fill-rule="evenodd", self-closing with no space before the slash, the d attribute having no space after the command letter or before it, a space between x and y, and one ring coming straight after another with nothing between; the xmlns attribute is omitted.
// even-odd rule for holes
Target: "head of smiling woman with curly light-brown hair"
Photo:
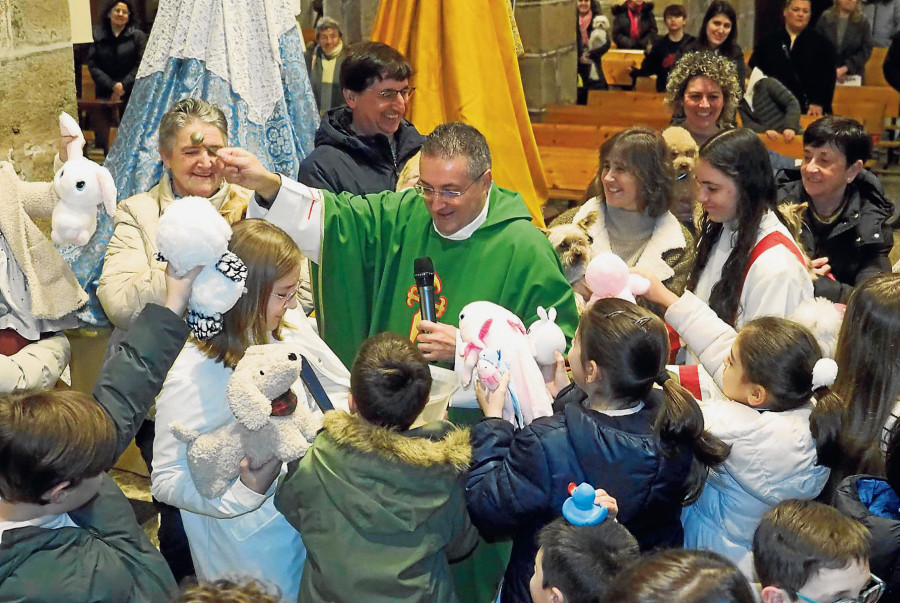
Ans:
<svg viewBox="0 0 900 603"><path fill-rule="evenodd" d="M734 127L740 96L734 63L710 51L684 55L672 68L666 85L672 123L690 132L697 144Z"/></svg>

